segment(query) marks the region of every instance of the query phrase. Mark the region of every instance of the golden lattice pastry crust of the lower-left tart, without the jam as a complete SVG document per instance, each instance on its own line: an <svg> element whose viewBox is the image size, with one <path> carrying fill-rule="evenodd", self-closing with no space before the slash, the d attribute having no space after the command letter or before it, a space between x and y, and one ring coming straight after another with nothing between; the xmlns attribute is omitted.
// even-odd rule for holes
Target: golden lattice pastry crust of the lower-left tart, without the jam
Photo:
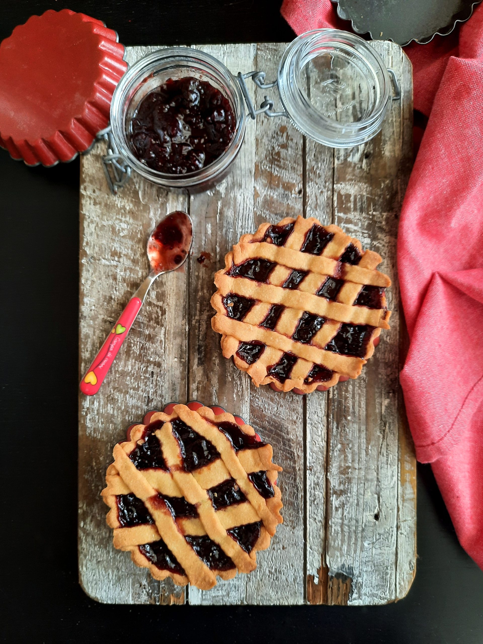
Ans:
<svg viewBox="0 0 483 644"><path fill-rule="evenodd" d="M208 441L211 449L216 448L218 455L211 457L204 466L189 471L182 455L184 448L173 433L172 421L177 419L196 432L198 439L202 437ZM249 573L256 568L256 552L269 547L276 527L283 522L281 493L275 484L281 468L272 463L272 447L260 442L260 447L251 445L235 449L227 433L219 427L224 422L236 425L242 435L252 437L255 434L251 426L236 424L230 413L215 415L207 407L193 411L178 404L171 415L158 412L151 416L149 425L134 426L130 440L114 446L115 460L106 471L107 485L101 493L110 508L106 521L113 528L113 544L117 549L131 551L133 562L149 568L155 579L171 577L178 585L190 583L207 590L216 585L216 576L229 579L237 571ZM166 467L137 469L129 456L153 436L158 441L156 445L160 446ZM263 472L270 482L272 497L262 496L250 480L249 475L259 472ZM212 489L232 479L234 489L244 499L225 506L220 504L216 509ZM123 525L118 495L135 495L136 503L143 504L142 509L149 513L151 522L141 520L136 525ZM184 499L194 506L194 516L177 516L166 503L166 497ZM228 532L242 526L254 526L254 544L247 546ZM214 542L231 560L232 567L227 569L225 564L218 570L211 561L198 556L189 542L197 537ZM169 565L167 569L158 567L152 558L148 558L152 544L166 547L171 561L174 557L171 569Z"/></svg>

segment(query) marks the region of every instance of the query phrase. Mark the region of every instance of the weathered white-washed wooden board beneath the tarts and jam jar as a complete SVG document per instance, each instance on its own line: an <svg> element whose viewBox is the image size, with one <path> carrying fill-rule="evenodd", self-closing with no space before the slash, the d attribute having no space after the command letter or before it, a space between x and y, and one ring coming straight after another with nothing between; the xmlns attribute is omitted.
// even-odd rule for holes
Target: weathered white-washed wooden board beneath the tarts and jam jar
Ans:
<svg viewBox="0 0 483 644"><path fill-rule="evenodd" d="M105 144L81 158L80 370L89 365L146 276L149 232L182 209L194 224L185 272L155 283L100 392L79 397L79 576L106 603L383 604L415 573L416 468L398 383L404 354L396 236L412 166L412 69L401 48L373 43L401 85L383 129L365 146L335 150L284 118L249 121L234 171L202 194L167 192L133 173L115 197L102 172ZM276 78L285 44L199 46L234 73ZM155 47L128 48L128 61ZM266 91L256 91L260 104ZM274 90L270 90L274 95ZM277 107L277 106L276 106ZM315 216L383 256L393 280L390 332L356 381L308 396L257 389L223 358L211 330L213 274L231 245L261 222ZM196 258L208 253L204 263ZM197 399L240 414L274 447L285 522L250 575L211 591L156 582L116 551L99 496L115 442L144 413Z"/></svg>

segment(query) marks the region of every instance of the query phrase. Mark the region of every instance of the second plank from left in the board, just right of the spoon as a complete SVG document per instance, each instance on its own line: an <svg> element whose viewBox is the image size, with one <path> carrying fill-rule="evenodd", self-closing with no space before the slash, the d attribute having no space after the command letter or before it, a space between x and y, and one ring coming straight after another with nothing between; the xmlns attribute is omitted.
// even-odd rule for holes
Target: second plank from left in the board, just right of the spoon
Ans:
<svg viewBox="0 0 483 644"><path fill-rule="evenodd" d="M199 49L220 59L234 73L252 69L256 45L200 45ZM225 254L240 235L253 227L253 176L255 129L247 123L245 142L232 173L207 193L192 194L193 261L189 273L189 397L200 402L220 404L231 413L250 419L250 385L222 355L220 336L211 329L214 272L224 266ZM204 263L196 261L209 253ZM264 553L261 553L263 556ZM251 574L258 574L254 571ZM191 604L241 604L247 601L247 575L227 582L218 580L211 591L189 589Z"/></svg>

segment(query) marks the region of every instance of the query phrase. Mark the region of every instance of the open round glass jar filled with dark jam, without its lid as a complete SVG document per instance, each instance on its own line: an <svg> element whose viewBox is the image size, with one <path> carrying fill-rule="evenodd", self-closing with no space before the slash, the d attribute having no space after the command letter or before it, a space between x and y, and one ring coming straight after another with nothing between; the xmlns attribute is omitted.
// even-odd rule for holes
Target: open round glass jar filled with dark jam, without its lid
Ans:
<svg viewBox="0 0 483 644"><path fill-rule="evenodd" d="M223 179L243 143L243 95L213 56L170 47L137 61L111 103L111 134L135 171L168 188Z"/></svg>

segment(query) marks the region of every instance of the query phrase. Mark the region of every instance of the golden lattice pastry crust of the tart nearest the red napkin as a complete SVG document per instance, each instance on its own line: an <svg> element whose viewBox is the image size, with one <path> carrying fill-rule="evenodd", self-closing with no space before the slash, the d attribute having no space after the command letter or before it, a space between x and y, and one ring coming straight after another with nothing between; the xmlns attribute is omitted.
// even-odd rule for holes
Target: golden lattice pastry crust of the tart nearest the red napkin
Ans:
<svg viewBox="0 0 483 644"><path fill-rule="evenodd" d="M290 229L283 245L272 243L269 235L269 229L279 227ZM328 239L321 254L301 251L313 228L321 229ZM348 249L355 249L354 252L360 255L356 264L341 261ZM266 281L231 274L232 267L249 260L266 260L275 264ZM225 268L218 270L214 277L218 290L211 298L211 305L216 311L211 325L214 331L222 335L223 355L232 357L234 364L246 371L256 386L272 383L284 392L297 388L303 393L310 393L321 384L325 388L333 386L341 376L357 378L374 353L374 340L381 334L381 329L390 328L390 311L386 308L384 289L390 286L391 281L387 275L376 270L381 261L381 256L373 251L363 251L361 243L339 227L322 226L314 218L299 216L295 220L287 217L276 225L261 224L254 234L245 234L240 238L240 242L226 254ZM303 274L301 281L296 288L284 287L294 271ZM328 278L337 282L335 299L317 295ZM355 304L365 287L380 290L379 308ZM230 295L253 302L242 319L229 316L223 301ZM261 326L273 305L282 309L276 325L274 328ZM304 315L323 318L321 328L309 343L294 338ZM367 328L363 354L344 355L327 349L342 325ZM237 353L240 343L256 343L263 346L263 350L252 363L248 363ZM289 377L281 381L270 374L270 370L286 354L293 357L295 362ZM317 368L326 370L325 380L317 381L311 376L312 370Z"/></svg>

